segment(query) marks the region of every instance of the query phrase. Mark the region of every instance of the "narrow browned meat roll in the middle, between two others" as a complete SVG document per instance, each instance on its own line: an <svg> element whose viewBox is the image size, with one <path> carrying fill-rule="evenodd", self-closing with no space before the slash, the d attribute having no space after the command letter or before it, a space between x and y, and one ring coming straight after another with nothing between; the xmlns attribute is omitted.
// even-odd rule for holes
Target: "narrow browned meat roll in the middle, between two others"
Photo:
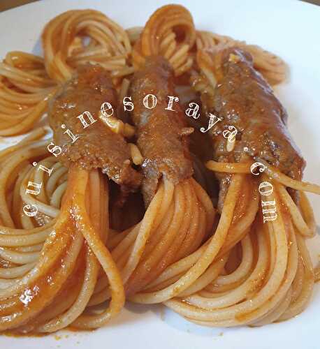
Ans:
<svg viewBox="0 0 320 349"><path fill-rule="evenodd" d="M153 109L143 105L143 98L148 94L157 96L157 105ZM185 127L179 103L173 103L175 111L165 110L168 96L175 96L173 70L166 59L149 57L143 70L134 75L130 95L135 105L133 122L138 128L137 143L145 158L143 195L148 205L161 176L175 184L192 176L186 137L190 129Z"/></svg>

